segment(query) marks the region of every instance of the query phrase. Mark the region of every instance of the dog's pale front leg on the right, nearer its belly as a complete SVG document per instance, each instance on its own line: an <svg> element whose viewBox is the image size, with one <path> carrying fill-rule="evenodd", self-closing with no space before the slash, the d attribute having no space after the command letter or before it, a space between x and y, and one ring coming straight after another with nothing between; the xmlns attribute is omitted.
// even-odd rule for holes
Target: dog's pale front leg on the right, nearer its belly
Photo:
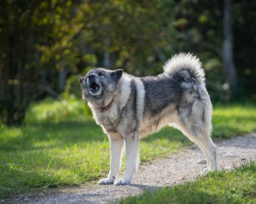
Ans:
<svg viewBox="0 0 256 204"><path fill-rule="evenodd" d="M117 180L115 185L128 185L131 183L133 174L139 162L139 135L135 132L130 137L125 138L126 146L126 171L123 179Z"/></svg>

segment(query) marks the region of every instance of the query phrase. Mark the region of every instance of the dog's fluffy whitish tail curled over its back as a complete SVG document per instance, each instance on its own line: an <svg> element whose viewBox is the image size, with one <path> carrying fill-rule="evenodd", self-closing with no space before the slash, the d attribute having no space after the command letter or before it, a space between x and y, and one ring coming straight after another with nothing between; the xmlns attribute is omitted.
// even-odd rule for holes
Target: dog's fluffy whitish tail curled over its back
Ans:
<svg viewBox="0 0 256 204"><path fill-rule="evenodd" d="M174 55L164 64L164 73L168 75L175 75L179 71L188 71L197 81L205 81L205 73L201 67L201 61L190 53Z"/></svg>

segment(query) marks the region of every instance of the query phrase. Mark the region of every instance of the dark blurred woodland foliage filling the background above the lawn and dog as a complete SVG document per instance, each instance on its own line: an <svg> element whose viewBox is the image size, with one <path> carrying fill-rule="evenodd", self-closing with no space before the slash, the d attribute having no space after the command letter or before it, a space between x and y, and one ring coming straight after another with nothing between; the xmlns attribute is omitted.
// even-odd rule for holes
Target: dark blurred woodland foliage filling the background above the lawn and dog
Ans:
<svg viewBox="0 0 256 204"><path fill-rule="evenodd" d="M236 92L249 99L256 96L249 46L255 41L255 5L233 3ZM222 66L222 6L174 0L1 1L1 123L21 124L30 102L49 94L57 98L65 90L65 98L78 96L74 76L89 68L155 75L179 52L203 61L213 100L230 100Z"/></svg>

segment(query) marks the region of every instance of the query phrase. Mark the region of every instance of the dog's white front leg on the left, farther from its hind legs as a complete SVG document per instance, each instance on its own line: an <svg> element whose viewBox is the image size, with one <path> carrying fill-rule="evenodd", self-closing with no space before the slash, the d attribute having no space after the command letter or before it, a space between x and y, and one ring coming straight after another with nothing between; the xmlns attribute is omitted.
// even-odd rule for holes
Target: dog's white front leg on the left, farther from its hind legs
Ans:
<svg viewBox="0 0 256 204"><path fill-rule="evenodd" d="M117 177L117 173L119 172L123 144L124 144L123 138L111 139L110 137L110 148L111 148L110 171L108 174L108 178L102 178L98 182L99 184L113 184L115 178Z"/></svg>

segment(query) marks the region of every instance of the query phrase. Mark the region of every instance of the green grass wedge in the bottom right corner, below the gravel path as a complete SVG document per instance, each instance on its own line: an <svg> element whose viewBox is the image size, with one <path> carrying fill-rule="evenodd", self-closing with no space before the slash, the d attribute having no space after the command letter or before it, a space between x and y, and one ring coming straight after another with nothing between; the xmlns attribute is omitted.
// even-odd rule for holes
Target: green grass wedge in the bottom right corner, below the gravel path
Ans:
<svg viewBox="0 0 256 204"><path fill-rule="evenodd" d="M199 176L193 182L128 197L120 203L256 203L256 162Z"/></svg>

